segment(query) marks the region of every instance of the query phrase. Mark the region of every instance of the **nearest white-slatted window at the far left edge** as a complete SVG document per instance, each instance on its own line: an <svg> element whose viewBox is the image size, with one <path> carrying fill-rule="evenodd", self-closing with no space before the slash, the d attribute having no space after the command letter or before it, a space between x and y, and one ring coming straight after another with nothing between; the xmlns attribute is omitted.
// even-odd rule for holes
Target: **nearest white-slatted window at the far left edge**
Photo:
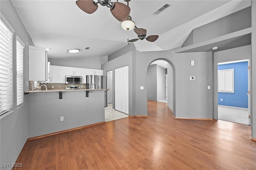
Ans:
<svg viewBox="0 0 256 170"><path fill-rule="evenodd" d="M12 108L12 43L14 30L0 13L0 115Z"/></svg>

